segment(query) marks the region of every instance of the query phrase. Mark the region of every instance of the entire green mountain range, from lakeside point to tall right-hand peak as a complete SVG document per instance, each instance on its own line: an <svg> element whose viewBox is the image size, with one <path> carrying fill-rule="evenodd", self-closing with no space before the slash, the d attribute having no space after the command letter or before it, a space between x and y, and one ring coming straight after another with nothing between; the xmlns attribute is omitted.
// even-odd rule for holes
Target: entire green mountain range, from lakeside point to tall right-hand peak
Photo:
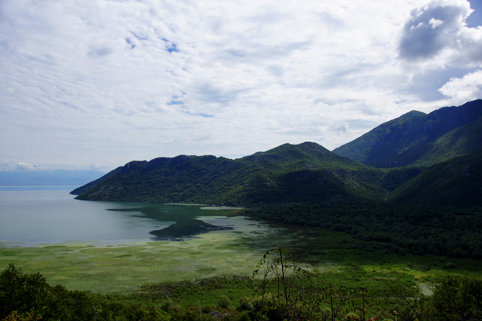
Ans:
<svg viewBox="0 0 482 321"><path fill-rule="evenodd" d="M73 190L79 200L201 203L392 202L482 205L482 100L411 111L333 152L283 144L239 159L132 161Z"/></svg>

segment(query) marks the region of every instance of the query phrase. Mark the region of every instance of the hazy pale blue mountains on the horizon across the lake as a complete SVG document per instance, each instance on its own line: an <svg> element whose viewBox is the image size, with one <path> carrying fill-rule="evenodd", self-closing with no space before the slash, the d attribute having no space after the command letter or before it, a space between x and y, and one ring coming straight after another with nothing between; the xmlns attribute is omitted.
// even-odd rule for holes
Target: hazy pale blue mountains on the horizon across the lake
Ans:
<svg viewBox="0 0 482 321"><path fill-rule="evenodd" d="M80 186L104 175L92 170L0 171L0 185Z"/></svg>

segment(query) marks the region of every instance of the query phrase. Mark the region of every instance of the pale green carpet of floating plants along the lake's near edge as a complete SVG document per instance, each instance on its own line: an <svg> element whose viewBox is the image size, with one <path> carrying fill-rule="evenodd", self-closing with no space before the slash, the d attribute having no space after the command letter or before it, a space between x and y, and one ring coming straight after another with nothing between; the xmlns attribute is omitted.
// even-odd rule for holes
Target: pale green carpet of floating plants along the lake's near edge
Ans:
<svg viewBox="0 0 482 321"><path fill-rule="evenodd" d="M260 254L270 245L269 229L242 216L205 217L235 223L235 230L212 231L183 241L145 241L108 245L92 243L9 247L2 242L0 264L28 273L40 272L51 284L72 290L127 293L140 285L252 273ZM234 222L236 221L236 222ZM273 239L276 239L274 237Z"/></svg>

